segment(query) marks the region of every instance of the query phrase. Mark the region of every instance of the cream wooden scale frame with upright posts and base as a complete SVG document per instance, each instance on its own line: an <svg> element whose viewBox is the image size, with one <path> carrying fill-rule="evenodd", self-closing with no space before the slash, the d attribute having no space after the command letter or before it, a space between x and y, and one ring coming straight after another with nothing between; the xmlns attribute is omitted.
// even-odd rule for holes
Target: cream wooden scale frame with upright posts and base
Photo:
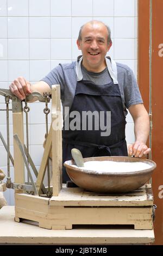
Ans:
<svg viewBox="0 0 163 256"><path fill-rule="evenodd" d="M52 87L52 124L36 181L40 195L52 149L53 196L33 196L23 190L15 190L15 221L36 221L39 227L46 229L72 229L73 225L85 224L132 224L134 229L153 229L153 195L150 184L126 194L96 194L80 187L68 188L62 185L61 129L53 127L56 120L61 122L61 119L60 86L56 85ZM17 133L24 144L22 112L13 113L13 133ZM23 157L15 141L14 159L15 183L24 184Z"/></svg>

